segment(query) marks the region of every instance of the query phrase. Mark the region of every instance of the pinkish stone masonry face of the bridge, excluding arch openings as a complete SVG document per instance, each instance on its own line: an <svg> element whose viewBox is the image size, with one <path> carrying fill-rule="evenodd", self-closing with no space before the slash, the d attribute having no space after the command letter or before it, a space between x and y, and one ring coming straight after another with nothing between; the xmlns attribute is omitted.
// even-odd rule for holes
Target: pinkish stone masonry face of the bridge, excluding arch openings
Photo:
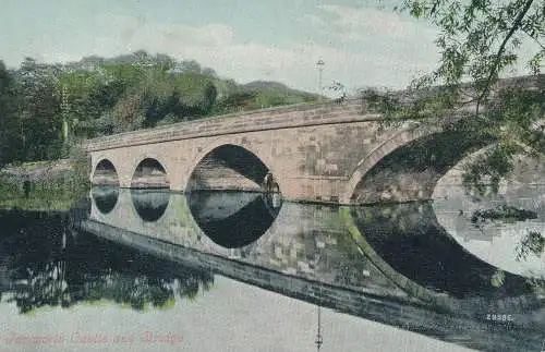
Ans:
<svg viewBox="0 0 545 352"><path fill-rule="evenodd" d="M517 83L520 84L520 80ZM440 172L408 168L405 174L396 171L397 184L393 189L386 182L388 172L383 180L380 174L374 174L374 180L380 180L380 186L375 181L370 181L375 184L373 189L365 184L362 186L362 179L386 156L443 131L440 125L423 126L410 121L401 128L380 129L380 119L361 99L348 99L340 104L233 113L99 137L86 144L92 158L90 180L100 183L93 180L95 169L100 161L109 160L114 167L119 185L134 186L132 181L137 166L150 158L160 163L168 180L165 183L174 191L190 191L194 184L221 190L249 190L255 184L254 189L258 190L259 180L249 182L252 179L249 174L241 174L237 180L237 174L221 167L237 160L226 160L229 157L225 156L222 160L214 160L215 150L234 146L256 157L257 161L253 161L255 168L268 170L278 183L282 197L288 201L348 205L428 199L441 177ZM432 147L437 147L437 141L432 143ZM204 159L208 160L208 167L203 165ZM215 162L218 165L217 174L209 167ZM204 171L198 173L195 170ZM195 182L196 175L203 180ZM412 182L404 189L402 180L425 182L422 185ZM356 194L362 192L363 196Z"/></svg>

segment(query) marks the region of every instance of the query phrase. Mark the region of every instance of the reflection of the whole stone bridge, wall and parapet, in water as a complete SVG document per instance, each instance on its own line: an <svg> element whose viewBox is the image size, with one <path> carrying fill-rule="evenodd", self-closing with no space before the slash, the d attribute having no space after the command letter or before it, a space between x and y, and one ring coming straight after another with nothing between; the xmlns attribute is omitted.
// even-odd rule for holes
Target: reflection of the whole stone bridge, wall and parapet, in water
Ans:
<svg viewBox="0 0 545 352"><path fill-rule="evenodd" d="M526 336L529 343L533 343L535 329L545 328L543 319L526 320L524 314L518 314L518 321L510 323L510 332L489 339L494 333L491 335L486 321L483 323L487 313L506 309L511 314L532 312L540 308L540 304L526 295L508 294L500 299L495 296L494 290L488 290L492 295L480 296L479 292L472 295L472 286L483 287L487 291L486 286L495 268L465 253L445 231L440 231L433 214L427 210L420 214L417 206L419 216L411 213L414 207L401 207L402 213L411 214L392 215L398 219L398 222L390 224L392 229L375 233L367 230L380 226L380 221L390 223L392 218L383 219L377 214L371 218L365 215L356 217L356 222L360 222L356 224L362 231L372 234L366 242L367 246L373 246L372 251L360 238L351 239L348 235L337 207L292 203L283 204L278 216L269 223L270 228L264 233L255 233L252 243L244 242L241 247L230 247L217 238L208 238L208 229L202 221L218 219L218 214L226 219L237 214L240 216L245 211L245 205L259 198L255 194L246 194L242 203L209 197L205 199L208 206L203 206L203 202L197 202L201 206L195 206L191 204L191 196L170 192L159 192L157 194L168 196L148 196L147 201L143 192L133 191L133 196L130 190L116 192L117 204L108 214L98 209L97 199L93 201L90 218L80 224L82 229L184 265L211 268L218 274L282 294L312 302L319 299L326 306L376 321L414 331L428 331L445 339L453 336L472 337L473 341L481 341L479 343L484 347L480 348L485 350L508 343L507 340L516 339L516 333ZM134 194L141 196L134 197ZM155 221L146 221L136 210L138 206L135 204L146 202L149 204L148 209L164 211ZM232 206L219 209L219 204ZM358 219L366 221L362 224ZM411 220L407 223L403 219ZM416 229L413 229L416 226L425 229L435 227L438 232L432 231L423 236L398 233L399 227L416 233ZM243 232L245 230L240 229ZM229 229L226 231L229 232ZM384 231L389 235L383 240ZM407 248L410 244L408 240L412 241L413 238L426 242L408 248L413 253L412 257L399 260L388 254L391 252L388 250L389 242L401 240L402 247ZM227 239L223 241L229 242ZM429 247L436 251L429 251ZM452 258L448 258L445 253L453 253ZM411 259L413 265L408 266L403 262L407 259ZM465 263L465 266L460 262ZM443 263L444 271L435 272L435 263ZM463 272L456 272L458 268ZM506 277L506 288L517 287L519 281L516 277ZM446 290L447 293L437 292L437 289ZM449 289L452 294L448 292Z"/></svg>

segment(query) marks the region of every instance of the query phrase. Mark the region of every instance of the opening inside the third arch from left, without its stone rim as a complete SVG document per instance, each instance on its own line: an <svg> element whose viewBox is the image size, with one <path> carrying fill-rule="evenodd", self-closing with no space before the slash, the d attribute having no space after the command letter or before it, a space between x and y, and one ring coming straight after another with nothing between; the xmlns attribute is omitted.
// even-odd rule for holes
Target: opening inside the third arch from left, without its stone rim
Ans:
<svg viewBox="0 0 545 352"><path fill-rule="evenodd" d="M216 145L197 159L187 180L187 191L259 191L264 181L270 179L268 166L256 154L235 144Z"/></svg>

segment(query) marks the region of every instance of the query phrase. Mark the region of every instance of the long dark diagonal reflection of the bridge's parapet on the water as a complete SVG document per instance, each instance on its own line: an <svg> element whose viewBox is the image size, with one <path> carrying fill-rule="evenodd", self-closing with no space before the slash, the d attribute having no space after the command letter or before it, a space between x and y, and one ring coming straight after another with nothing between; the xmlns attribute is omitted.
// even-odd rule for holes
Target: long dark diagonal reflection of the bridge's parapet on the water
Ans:
<svg viewBox="0 0 545 352"><path fill-rule="evenodd" d="M81 228L184 266L210 269L216 274L283 295L469 348L483 351L531 351L541 343L543 326L532 326L532 324L500 326L498 324L491 328L491 324L494 323L484 320L484 317L480 320L463 315L440 313L434 307L415 303L402 295L391 295L385 299L384 292L380 292L386 289L385 287L382 288L383 290L375 288L362 292L361 289L319 282L316 278L286 275L263 266L249 265L240 258L232 260L202 253L92 220L83 222ZM362 262L364 262L363 258ZM368 263L366 265L368 266ZM378 271L372 270L372 281L384 280L378 276ZM368 282L367 286L373 287ZM395 289L390 288L390 291L395 292Z"/></svg>

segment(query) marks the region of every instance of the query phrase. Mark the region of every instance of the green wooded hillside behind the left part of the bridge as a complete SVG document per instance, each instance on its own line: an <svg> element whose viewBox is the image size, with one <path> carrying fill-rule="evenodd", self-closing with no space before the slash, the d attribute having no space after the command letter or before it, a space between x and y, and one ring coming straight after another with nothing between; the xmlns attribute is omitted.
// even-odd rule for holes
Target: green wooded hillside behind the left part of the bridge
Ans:
<svg viewBox="0 0 545 352"><path fill-rule="evenodd" d="M14 71L0 61L0 167L66 158L85 138L313 99L279 84L239 85L194 60L144 50L66 64L26 58Z"/></svg>

